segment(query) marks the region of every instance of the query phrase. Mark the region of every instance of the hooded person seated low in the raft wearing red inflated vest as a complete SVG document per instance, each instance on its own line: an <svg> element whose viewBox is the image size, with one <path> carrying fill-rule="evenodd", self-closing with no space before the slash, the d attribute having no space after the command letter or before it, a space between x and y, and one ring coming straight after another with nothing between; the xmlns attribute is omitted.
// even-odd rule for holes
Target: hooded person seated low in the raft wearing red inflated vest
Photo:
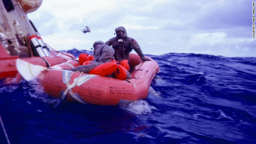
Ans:
<svg viewBox="0 0 256 144"><path fill-rule="evenodd" d="M120 80L132 77L130 72L128 72L129 67L127 69L128 60L122 62L123 66L113 62L115 52L112 47L104 44L102 41L94 42L93 47L96 58L92 61L84 62L82 60L83 56L80 54L79 62L80 64L83 63L82 66L72 68L70 69L71 71L107 76ZM86 60L87 59L88 58L86 58ZM124 66L126 66L126 68Z"/></svg>

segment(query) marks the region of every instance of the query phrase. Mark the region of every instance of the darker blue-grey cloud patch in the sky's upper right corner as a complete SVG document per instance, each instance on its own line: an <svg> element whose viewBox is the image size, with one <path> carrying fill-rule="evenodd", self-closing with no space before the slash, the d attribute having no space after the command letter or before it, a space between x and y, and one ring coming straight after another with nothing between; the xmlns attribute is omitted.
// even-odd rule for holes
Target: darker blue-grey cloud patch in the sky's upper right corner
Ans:
<svg viewBox="0 0 256 144"><path fill-rule="evenodd" d="M194 26L199 29L236 28L250 26L251 2L224 0L220 4L209 2L198 13Z"/></svg>

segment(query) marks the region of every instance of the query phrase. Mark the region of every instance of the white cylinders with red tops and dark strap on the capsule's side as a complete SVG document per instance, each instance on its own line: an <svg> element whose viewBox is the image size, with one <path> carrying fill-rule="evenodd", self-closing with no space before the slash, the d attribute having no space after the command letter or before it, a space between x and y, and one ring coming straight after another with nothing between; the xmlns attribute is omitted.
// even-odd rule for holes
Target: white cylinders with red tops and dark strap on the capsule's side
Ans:
<svg viewBox="0 0 256 144"><path fill-rule="evenodd" d="M47 56L36 35L30 36L28 39L34 56Z"/></svg>

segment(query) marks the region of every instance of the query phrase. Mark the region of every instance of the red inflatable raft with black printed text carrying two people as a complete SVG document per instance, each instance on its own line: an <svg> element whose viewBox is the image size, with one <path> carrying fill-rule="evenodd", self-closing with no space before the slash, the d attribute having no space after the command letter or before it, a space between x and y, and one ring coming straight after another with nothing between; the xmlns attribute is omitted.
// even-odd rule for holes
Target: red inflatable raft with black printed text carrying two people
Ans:
<svg viewBox="0 0 256 144"><path fill-rule="evenodd" d="M157 62L149 59L151 61L142 62L137 54L130 54L130 66L134 70L132 78L125 80L62 70L79 66L76 60L48 68L37 78L44 91L55 98L82 104L127 104L148 96L152 79L159 72Z"/></svg>

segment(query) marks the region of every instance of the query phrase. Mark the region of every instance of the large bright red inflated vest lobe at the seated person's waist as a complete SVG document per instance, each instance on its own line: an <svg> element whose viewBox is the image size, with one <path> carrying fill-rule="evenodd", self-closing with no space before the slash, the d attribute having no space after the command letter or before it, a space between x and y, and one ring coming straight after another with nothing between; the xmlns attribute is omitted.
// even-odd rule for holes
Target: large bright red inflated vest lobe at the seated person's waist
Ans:
<svg viewBox="0 0 256 144"><path fill-rule="evenodd" d="M99 76L107 76L115 73L115 78L124 80L126 78L126 70L123 66L113 62L106 62L92 69L89 74L96 74Z"/></svg>

